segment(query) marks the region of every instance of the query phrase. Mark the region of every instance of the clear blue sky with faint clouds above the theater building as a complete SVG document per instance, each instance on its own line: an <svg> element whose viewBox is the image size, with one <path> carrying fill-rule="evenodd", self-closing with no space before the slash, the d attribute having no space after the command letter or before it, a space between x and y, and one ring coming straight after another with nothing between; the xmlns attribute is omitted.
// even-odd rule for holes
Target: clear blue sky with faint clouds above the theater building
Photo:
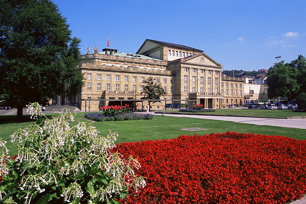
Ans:
<svg viewBox="0 0 306 204"><path fill-rule="evenodd" d="M136 53L145 39L204 50L224 70L257 71L306 56L306 1L54 0L73 36L99 52Z"/></svg>

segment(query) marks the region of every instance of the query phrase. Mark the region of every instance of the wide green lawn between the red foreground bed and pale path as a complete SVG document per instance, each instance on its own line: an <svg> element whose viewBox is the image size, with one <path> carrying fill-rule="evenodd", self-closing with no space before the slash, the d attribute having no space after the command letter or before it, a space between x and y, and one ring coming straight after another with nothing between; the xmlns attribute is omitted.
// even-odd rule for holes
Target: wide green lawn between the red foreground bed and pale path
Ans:
<svg viewBox="0 0 306 204"><path fill-rule="evenodd" d="M238 110L235 110L238 111ZM245 111L245 110L242 110ZM248 110L246 110L248 111ZM251 110L252 112L254 110ZM256 110L258 111L258 110ZM261 111L261 110L259 110ZM263 110L267 111L267 110ZM278 111L267 111L278 112ZM58 116L59 114L47 115L49 118L52 116ZM77 113L76 118L83 122L88 120L82 119L84 113ZM10 143L9 135L13 134L18 128L24 128L33 121L27 122L12 122L12 117L16 116L0 116L0 138L8 141L7 147L12 150L11 155L17 153L15 144ZM25 118L29 115L25 115ZM231 132L244 132L244 133L256 133L263 135L282 135L286 137L292 137L298 140L305 140L306 133L304 129L298 128L285 128L276 126L258 126L252 124L244 124L229 121L198 119L198 118L186 118L186 117L171 117L155 115L154 120L135 120L135 121L116 121L116 122L93 122L93 125L100 131L101 135L106 135L110 129L112 132L118 132L118 143L121 142L136 142L142 140L161 140L171 139L179 135L193 135L195 133L204 135L209 133L224 133ZM6 121L6 122L3 122ZM76 122L72 122L72 125ZM206 130L200 131L187 131L183 128L198 127Z"/></svg>

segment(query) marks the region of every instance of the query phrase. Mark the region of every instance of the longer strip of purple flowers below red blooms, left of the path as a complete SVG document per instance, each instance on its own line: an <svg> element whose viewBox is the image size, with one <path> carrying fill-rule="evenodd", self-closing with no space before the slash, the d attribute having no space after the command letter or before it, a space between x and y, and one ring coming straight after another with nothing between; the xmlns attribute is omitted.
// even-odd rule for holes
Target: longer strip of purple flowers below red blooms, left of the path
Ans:
<svg viewBox="0 0 306 204"><path fill-rule="evenodd" d="M84 118L94 120L97 122L103 121L123 121L123 120L151 120L154 119L152 114L140 114L140 113L123 113L115 116L105 116L101 113L87 113Z"/></svg>

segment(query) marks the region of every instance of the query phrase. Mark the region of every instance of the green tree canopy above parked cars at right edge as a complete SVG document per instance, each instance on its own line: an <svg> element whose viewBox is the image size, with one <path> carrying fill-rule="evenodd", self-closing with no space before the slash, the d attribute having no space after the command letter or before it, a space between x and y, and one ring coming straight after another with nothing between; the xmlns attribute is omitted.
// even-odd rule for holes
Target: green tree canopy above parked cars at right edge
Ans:
<svg viewBox="0 0 306 204"><path fill-rule="evenodd" d="M291 101L305 92L306 59L298 55L290 63L274 63L267 73L267 92L269 98L287 97Z"/></svg>

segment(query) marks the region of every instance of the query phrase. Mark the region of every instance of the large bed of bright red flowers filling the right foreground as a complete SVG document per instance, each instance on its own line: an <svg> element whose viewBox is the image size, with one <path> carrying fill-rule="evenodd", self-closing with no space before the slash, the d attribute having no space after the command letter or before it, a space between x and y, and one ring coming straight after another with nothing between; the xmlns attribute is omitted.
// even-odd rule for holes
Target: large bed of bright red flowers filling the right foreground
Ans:
<svg viewBox="0 0 306 204"><path fill-rule="evenodd" d="M286 203L306 193L306 141L212 133L129 142L147 185L125 203Z"/></svg>

